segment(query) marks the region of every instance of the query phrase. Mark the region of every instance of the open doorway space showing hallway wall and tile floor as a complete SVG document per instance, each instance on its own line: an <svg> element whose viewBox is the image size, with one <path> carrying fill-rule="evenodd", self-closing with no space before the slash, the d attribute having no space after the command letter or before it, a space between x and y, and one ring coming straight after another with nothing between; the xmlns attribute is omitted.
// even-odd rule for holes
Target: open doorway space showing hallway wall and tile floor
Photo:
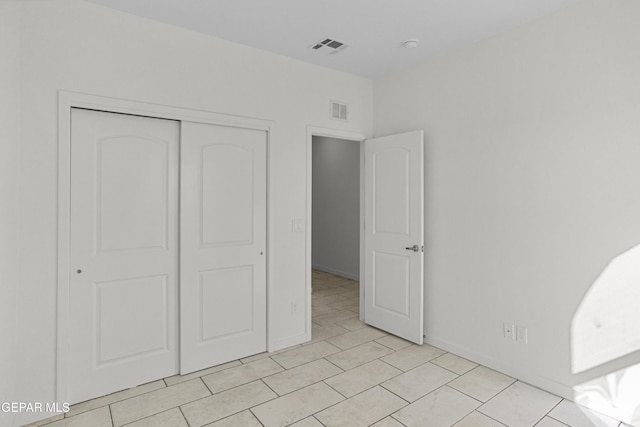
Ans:
<svg viewBox="0 0 640 427"><path fill-rule="evenodd" d="M326 335L328 325L362 325L360 145L331 136L311 138L312 339Z"/></svg>

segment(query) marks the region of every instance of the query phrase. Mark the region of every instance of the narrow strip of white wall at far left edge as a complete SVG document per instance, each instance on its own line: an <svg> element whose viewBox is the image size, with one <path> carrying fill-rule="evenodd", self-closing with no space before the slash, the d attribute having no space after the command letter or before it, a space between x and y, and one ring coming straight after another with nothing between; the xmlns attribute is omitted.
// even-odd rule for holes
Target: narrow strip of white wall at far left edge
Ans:
<svg viewBox="0 0 640 427"><path fill-rule="evenodd" d="M20 147L20 8L0 2L0 402L15 385L15 293ZM0 415L0 422L3 415ZM7 421L13 418L4 416Z"/></svg>

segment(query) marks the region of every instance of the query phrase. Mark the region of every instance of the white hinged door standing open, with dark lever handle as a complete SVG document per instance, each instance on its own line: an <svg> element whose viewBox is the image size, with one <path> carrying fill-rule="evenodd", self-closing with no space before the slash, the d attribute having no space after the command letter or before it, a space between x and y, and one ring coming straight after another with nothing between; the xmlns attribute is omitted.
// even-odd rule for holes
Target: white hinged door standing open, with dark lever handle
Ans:
<svg viewBox="0 0 640 427"><path fill-rule="evenodd" d="M422 344L423 133L368 139L364 321Z"/></svg>

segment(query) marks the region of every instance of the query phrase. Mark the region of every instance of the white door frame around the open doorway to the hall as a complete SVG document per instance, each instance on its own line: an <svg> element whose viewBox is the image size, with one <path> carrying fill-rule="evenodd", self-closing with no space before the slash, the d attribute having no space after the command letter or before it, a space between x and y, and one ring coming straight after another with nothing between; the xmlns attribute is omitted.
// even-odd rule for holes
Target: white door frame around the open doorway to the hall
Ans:
<svg viewBox="0 0 640 427"><path fill-rule="evenodd" d="M312 218L311 218L311 202L312 202L312 183L313 176L313 137L323 136L327 138L344 139L347 141L356 141L360 145L360 320L364 319L364 140L366 136L347 130L331 129L321 126L307 126L307 182L306 182L306 218L307 224L305 230L305 292L306 292L306 305L307 305L307 324L305 327L305 333L307 340L311 339L311 232L312 232Z"/></svg>

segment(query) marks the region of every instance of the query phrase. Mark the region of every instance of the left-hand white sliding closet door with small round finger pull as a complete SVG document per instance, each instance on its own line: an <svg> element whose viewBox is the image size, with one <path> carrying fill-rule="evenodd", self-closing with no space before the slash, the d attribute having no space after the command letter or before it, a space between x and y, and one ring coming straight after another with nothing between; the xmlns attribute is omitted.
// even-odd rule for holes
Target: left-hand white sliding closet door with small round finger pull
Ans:
<svg viewBox="0 0 640 427"><path fill-rule="evenodd" d="M179 124L72 109L71 403L177 373Z"/></svg>

